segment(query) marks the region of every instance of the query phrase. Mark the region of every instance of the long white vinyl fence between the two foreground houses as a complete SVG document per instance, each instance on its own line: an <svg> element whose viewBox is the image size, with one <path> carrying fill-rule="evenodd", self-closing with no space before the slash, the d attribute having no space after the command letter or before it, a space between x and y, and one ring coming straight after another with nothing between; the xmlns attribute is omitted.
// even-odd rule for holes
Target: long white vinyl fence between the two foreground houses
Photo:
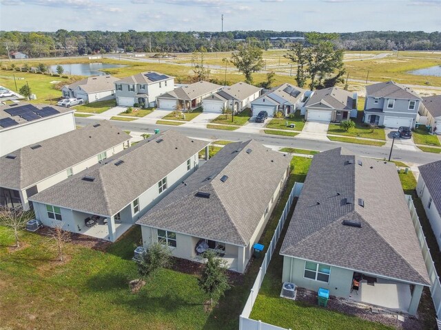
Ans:
<svg viewBox="0 0 441 330"><path fill-rule="evenodd" d="M302 183L296 182L294 184L294 187L292 187L291 192L289 193L288 201L285 204L282 215L280 216L276 231L274 232L273 238L271 239L271 243L269 243L267 253L265 253L265 258L263 258L262 266L260 266L256 281L254 281L254 285L247 299L247 303L243 308L242 314L240 314L239 330L286 330L284 328L276 327L275 325L269 325L262 321L252 320L249 318L249 314L251 314L251 311L253 309L253 305L256 301L260 286L262 285L263 278L265 274L267 274L269 262L271 261L271 257L273 256L274 250L276 249L277 241L280 238L280 233L282 232L283 226L285 225L285 221L288 217L292 201L294 200L294 197L298 197L300 195L302 187ZM280 281L281 280L282 279L280 278Z"/></svg>

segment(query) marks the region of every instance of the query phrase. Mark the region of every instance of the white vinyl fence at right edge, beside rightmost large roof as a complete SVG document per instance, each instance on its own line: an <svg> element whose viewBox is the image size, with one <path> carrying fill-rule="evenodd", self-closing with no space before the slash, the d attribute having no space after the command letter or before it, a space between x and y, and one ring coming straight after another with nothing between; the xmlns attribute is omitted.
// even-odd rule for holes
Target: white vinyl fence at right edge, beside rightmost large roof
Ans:
<svg viewBox="0 0 441 330"><path fill-rule="evenodd" d="M435 264L433 263L432 256L430 254L429 246L426 242L426 236L424 236L424 232L422 231L420 219L418 218L418 214L415 209L415 205L413 205L413 200L410 195L406 195L407 206L409 206L409 210L411 211L411 217L413 221L413 226L415 227L415 231L418 237L418 241L420 242L420 248L422 251L422 256L424 258L424 263L426 263L427 272L429 273L429 278L431 281L430 292L433 300L433 305L435 305L435 311L438 319L441 319L441 283L440 276L436 273Z"/></svg>

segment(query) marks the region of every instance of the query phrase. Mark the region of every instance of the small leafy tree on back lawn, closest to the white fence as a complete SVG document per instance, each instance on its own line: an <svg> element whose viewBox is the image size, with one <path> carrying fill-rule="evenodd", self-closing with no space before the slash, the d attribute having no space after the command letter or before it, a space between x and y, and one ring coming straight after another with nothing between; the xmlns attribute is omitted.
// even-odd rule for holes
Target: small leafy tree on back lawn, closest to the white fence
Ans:
<svg viewBox="0 0 441 330"><path fill-rule="evenodd" d="M223 296L225 291L231 286L228 283L227 267L225 261L218 258L212 251L203 254L207 258L204 270L198 283L206 294L209 294L210 303L213 305L213 299Z"/></svg>

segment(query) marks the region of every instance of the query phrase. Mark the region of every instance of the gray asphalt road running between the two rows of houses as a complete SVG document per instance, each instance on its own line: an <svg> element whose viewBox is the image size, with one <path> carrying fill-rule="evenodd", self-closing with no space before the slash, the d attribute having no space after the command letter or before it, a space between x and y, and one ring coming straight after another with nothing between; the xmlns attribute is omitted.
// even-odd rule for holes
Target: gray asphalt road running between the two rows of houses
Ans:
<svg viewBox="0 0 441 330"><path fill-rule="evenodd" d="M92 118L75 118L76 124L87 125L90 123L98 122L99 120ZM192 127L185 126L166 126L158 124L143 124L134 122L122 122L117 120L112 120L112 124L118 126L120 129L125 131L138 131L153 133L154 129L161 129L165 131L167 129L174 129L184 135L190 137L199 137L205 139L213 140L230 140L230 141L245 141L254 139L262 144L267 144L271 146L288 146L292 148L303 148L318 151L325 151L331 148L337 148L338 146L344 146L353 153L365 156L365 157L375 157L375 158L388 158L390 148L384 146L369 146L363 144L350 144L342 142L333 141L317 141L317 140L306 140L306 139L295 139L293 137L277 136L277 135L267 135L267 134L252 134L252 133L238 133L234 131L223 131L214 129L194 129ZM416 151L405 151L393 149L392 160L399 160L402 162L410 162L415 164L426 164L430 162L435 162L441 160L440 154L435 153L422 153Z"/></svg>

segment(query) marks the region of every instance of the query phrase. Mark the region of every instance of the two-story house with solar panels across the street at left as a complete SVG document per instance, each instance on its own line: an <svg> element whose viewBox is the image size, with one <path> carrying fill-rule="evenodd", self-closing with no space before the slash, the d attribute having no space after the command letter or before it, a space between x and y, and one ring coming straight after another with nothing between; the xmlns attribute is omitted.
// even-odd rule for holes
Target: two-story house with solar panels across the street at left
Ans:
<svg viewBox="0 0 441 330"><path fill-rule="evenodd" d="M115 82L116 103L123 107L145 104L156 107L156 97L174 90L174 77L157 72L141 72Z"/></svg>

